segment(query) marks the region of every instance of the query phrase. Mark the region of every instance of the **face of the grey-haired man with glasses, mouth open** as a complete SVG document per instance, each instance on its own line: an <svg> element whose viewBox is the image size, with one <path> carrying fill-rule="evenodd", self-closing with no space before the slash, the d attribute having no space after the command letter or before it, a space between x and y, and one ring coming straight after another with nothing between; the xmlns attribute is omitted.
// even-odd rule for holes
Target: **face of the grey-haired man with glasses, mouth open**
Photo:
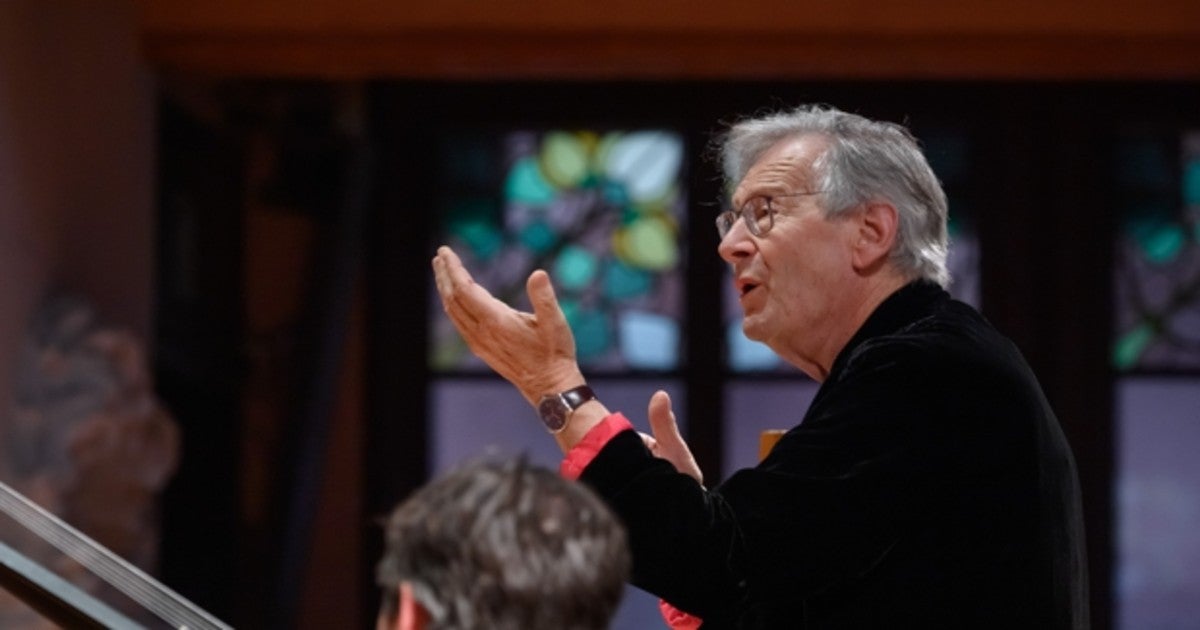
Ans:
<svg viewBox="0 0 1200 630"><path fill-rule="evenodd" d="M785 139L772 146L733 193L733 208L755 197L817 192L812 163L826 149L821 137ZM775 197L774 227L763 236L738 221L718 252L733 271L742 329L808 371L824 331L842 316L840 293L853 275L853 222L827 220L818 194ZM810 372L811 373L811 372Z"/></svg>

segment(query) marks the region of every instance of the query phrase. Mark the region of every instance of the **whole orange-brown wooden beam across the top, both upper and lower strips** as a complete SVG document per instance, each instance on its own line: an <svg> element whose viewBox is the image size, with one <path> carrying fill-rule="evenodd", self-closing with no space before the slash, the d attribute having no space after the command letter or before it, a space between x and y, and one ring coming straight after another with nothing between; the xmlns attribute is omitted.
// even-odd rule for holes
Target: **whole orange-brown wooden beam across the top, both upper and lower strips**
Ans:
<svg viewBox="0 0 1200 630"><path fill-rule="evenodd" d="M1200 78L1192 0L139 0L164 68L319 78Z"/></svg>

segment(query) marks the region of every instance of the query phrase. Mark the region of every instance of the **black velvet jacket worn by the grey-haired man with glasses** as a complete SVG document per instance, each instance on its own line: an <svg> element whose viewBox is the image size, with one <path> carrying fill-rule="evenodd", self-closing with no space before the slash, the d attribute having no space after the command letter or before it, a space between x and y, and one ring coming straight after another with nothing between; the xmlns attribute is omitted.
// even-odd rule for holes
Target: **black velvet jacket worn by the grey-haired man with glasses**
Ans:
<svg viewBox="0 0 1200 630"><path fill-rule="evenodd" d="M931 283L876 308L757 467L706 491L626 431L581 479L629 528L634 583L704 629L1087 626L1058 421L1013 343Z"/></svg>

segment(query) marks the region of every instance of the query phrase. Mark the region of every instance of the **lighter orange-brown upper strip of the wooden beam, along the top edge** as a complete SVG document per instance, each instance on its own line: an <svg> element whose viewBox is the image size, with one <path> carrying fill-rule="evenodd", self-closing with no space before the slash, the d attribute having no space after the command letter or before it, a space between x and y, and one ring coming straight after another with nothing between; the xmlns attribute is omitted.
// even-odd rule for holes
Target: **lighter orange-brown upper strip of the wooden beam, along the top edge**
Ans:
<svg viewBox="0 0 1200 630"><path fill-rule="evenodd" d="M138 0L180 31L1200 32L1190 0Z"/></svg>

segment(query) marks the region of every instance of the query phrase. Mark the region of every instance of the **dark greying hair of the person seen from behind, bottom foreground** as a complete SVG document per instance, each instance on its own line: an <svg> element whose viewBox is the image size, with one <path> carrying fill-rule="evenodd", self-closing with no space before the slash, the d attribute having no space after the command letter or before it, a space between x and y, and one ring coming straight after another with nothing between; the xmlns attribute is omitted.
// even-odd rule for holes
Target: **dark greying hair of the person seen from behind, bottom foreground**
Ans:
<svg viewBox="0 0 1200 630"><path fill-rule="evenodd" d="M587 486L524 457L478 460L397 506L380 616L409 582L433 630L604 630L629 578L624 527Z"/></svg>

